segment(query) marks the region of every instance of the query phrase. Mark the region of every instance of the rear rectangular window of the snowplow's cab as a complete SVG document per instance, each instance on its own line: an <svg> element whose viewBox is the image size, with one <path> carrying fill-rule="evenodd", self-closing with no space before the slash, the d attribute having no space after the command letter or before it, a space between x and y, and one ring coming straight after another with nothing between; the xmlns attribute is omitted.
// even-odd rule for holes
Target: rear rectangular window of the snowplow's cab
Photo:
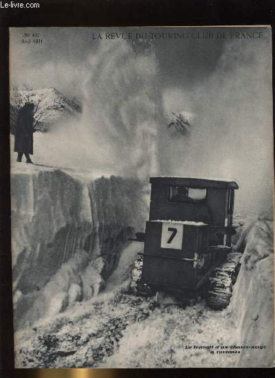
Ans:
<svg viewBox="0 0 275 378"><path fill-rule="evenodd" d="M206 188L185 188L183 186L170 186L169 201L175 203L205 203Z"/></svg>

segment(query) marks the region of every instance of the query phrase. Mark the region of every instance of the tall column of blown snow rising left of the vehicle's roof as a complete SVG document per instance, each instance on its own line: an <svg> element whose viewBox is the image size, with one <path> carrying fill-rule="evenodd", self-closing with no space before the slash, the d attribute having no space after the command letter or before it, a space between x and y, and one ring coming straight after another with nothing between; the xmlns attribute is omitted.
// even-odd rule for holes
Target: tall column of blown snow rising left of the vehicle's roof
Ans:
<svg viewBox="0 0 275 378"><path fill-rule="evenodd" d="M102 170L147 179L157 171L157 62L126 41L104 41L90 57L83 124Z"/></svg>

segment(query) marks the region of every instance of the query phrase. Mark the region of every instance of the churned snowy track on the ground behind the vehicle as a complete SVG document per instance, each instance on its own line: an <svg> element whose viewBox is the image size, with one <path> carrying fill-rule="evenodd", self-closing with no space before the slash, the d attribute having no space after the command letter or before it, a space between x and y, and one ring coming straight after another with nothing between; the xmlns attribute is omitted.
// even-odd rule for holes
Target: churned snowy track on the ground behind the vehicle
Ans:
<svg viewBox="0 0 275 378"><path fill-rule="evenodd" d="M17 331L17 366L181 367L224 366L234 355L210 353L203 346L234 344L230 313L204 302L179 304L171 297L139 298L127 293L141 243L131 243L104 293L76 303L54 319ZM23 348L22 348L23 346ZM196 348L199 346L199 348Z"/></svg>

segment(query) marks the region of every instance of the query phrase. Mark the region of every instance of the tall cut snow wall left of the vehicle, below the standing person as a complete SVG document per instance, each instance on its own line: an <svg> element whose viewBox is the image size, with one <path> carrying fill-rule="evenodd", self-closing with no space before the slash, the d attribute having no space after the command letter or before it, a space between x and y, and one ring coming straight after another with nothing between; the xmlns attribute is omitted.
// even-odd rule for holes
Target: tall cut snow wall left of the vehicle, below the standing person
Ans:
<svg viewBox="0 0 275 378"><path fill-rule="evenodd" d="M143 230L136 179L82 179L63 170L12 169L14 324L31 325L104 287L122 247Z"/></svg>

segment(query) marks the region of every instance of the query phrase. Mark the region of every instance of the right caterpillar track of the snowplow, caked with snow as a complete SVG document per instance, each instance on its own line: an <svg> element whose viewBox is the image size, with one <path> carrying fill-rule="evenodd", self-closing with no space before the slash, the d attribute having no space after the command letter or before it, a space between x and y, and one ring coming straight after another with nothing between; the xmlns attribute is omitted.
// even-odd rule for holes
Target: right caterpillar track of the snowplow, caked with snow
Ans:
<svg viewBox="0 0 275 378"><path fill-rule="evenodd" d="M208 305L212 309L222 310L230 303L233 285L241 267L241 256L239 252L231 252L223 265L214 268L208 289Z"/></svg>

